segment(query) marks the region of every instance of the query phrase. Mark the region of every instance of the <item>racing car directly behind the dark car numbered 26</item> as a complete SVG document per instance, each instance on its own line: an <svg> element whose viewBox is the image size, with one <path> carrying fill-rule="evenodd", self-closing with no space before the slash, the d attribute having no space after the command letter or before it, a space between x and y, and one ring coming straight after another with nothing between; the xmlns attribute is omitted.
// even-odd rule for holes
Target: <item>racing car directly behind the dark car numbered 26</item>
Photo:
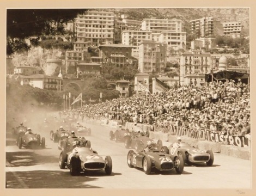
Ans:
<svg viewBox="0 0 256 196"><path fill-rule="evenodd" d="M144 133L136 133L133 136L131 135L125 136L124 145L125 145L125 148L135 148L135 150L141 151L147 145L146 143L149 140L153 143L152 146L154 148L161 150L163 145L162 140L159 139L157 140L157 143L156 143L153 139L150 139L147 136L145 136Z"/></svg>

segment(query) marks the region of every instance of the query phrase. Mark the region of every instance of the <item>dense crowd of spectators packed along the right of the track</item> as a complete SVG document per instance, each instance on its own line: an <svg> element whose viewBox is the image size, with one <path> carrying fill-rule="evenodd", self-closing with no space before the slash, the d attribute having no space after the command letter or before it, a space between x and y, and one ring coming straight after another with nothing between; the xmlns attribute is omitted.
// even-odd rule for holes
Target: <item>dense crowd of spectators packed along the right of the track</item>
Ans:
<svg viewBox="0 0 256 196"><path fill-rule="evenodd" d="M250 137L248 85L233 80L204 87L184 85L158 94L122 97L70 111L77 120L115 119L155 126L182 126Z"/></svg>

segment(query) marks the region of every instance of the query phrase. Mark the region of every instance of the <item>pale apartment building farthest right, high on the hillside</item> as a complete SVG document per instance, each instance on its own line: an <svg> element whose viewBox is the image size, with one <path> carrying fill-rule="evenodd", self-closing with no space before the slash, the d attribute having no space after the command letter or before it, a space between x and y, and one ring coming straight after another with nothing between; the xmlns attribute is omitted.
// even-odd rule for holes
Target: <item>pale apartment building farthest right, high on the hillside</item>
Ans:
<svg viewBox="0 0 256 196"><path fill-rule="evenodd" d="M224 35L231 36L232 38L240 38L242 30L241 22L223 22Z"/></svg>

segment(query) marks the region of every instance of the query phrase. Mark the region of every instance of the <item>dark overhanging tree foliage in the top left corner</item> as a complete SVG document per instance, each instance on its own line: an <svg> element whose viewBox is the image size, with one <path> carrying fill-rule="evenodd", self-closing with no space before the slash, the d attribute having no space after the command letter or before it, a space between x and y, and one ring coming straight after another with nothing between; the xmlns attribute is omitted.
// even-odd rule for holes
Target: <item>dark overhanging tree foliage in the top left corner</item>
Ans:
<svg viewBox="0 0 256 196"><path fill-rule="evenodd" d="M64 24L85 11L87 9L7 9L7 55L28 51L31 45L38 45L41 35L64 34Z"/></svg>

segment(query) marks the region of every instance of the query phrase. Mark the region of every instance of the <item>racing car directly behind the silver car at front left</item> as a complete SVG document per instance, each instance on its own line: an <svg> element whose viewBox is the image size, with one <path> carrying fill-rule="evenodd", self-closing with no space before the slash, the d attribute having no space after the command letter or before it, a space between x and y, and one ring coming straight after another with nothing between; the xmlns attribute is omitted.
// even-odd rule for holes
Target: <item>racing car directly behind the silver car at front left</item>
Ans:
<svg viewBox="0 0 256 196"><path fill-rule="evenodd" d="M58 149L66 152L70 152L74 149L76 141L79 140L81 144L85 145L87 148L90 148L90 140L86 140L84 137L70 137L60 139L58 142Z"/></svg>

